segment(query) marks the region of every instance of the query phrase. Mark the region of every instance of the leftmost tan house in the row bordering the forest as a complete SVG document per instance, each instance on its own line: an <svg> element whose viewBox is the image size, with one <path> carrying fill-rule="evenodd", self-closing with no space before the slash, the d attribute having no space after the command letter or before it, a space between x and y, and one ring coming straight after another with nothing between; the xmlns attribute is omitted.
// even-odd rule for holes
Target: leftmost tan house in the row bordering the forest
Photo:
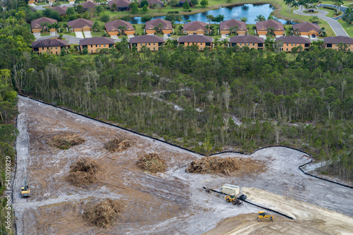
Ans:
<svg viewBox="0 0 353 235"><path fill-rule="evenodd" d="M64 40L47 39L32 42L32 51L37 53L60 54L61 49L66 49L67 45Z"/></svg>

